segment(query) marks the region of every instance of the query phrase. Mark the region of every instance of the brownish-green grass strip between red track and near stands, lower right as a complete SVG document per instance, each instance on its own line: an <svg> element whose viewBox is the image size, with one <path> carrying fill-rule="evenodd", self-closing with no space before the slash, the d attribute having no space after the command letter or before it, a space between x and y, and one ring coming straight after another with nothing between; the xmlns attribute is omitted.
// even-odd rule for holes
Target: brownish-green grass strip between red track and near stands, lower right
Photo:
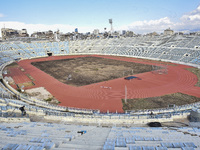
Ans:
<svg viewBox="0 0 200 150"><path fill-rule="evenodd" d="M200 98L182 93L174 93L174 94L169 94L159 97L150 97L150 98L127 99L127 103L125 103L124 99L122 99L124 111L166 108L170 104L175 104L176 106L180 106L180 105L195 103L198 101L200 101Z"/></svg>

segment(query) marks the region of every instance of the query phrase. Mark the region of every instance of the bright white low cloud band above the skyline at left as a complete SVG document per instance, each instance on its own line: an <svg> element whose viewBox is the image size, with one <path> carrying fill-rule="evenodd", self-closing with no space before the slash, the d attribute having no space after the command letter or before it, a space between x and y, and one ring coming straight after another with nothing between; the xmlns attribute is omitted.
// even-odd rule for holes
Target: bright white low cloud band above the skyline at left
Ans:
<svg viewBox="0 0 200 150"><path fill-rule="evenodd" d="M21 29L27 29L27 32L29 34L32 34L33 32L36 31L48 31L48 30L52 30L52 31L57 31L58 29L60 30L60 32L63 33L67 33L67 32L73 32L75 28L77 28L77 26L71 26L71 25L67 25L67 24L52 24L52 25L47 25L47 24L26 24L23 22L16 22L16 21L7 21L7 22L0 22L0 28L3 27L6 28L12 28L12 29L17 29L17 30L21 30ZM88 31L92 31L93 29L91 27L78 27L79 32L88 32Z"/></svg>

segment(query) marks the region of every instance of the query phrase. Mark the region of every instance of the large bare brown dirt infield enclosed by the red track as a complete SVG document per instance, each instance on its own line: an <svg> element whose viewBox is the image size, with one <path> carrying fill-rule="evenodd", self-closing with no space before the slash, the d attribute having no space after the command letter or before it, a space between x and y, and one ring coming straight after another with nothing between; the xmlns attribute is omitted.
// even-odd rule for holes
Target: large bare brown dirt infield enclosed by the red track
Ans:
<svg viewBox="0 0 200 150"><path fill-rule="evenodd" d="M73 86L83 86L152 71L151 65L99 57L33 62L32 65L60 82Z"/></svg>

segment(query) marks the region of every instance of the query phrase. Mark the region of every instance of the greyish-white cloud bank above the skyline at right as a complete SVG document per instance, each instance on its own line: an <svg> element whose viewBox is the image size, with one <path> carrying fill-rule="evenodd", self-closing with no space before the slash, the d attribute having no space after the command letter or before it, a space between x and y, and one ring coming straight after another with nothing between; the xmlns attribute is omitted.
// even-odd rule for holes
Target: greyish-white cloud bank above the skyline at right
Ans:
<svg viewBox="0 0 200 150"><path fill-rule="evenodd" d="M199 31L200 30L200 6L195 10L184 14L177 22L172 22L169 17L160 18L157 20L144 20L135 21L129 25L120 27L120 30L131 30L135 33L161 33L167 28L171 28L175 31Z"/></svg>

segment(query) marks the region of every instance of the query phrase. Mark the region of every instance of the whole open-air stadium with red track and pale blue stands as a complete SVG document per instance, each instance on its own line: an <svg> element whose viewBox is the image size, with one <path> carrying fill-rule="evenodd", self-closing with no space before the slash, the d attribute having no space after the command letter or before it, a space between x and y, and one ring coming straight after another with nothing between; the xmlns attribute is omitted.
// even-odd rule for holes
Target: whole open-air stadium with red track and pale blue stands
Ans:
<svg viewBox="0 0 200 150"><path fill-rule="evenodd" d="M185 122L187 118L199 121L199 41L198 35L172 35L0 43L1 148L199 149L199 128ZM77 59L86 62L91 59L90 69L95 72L94 76L78 80L78 84L72 83L73 71L64 72L64 78L58 81L60 76L56 78L40 68L45 62L44 68L50 70L53 64L61 62L63 66L62 61L70 64L71 60L69 66L76 68L74 72L85 75L91 71L73 66ZM98 63L94 64L95 61ZM81 64L87 65L86 62ZM146 65L148 69L140 72L142 65L140 69L127 69L125 63L131 67ZM120 68L120 64L123 64L120 75L114 76L118 74L115 67ZM103 72L104 68L113 70ZM62 70L65 69L52 72L62 74ZM114 73L109 78L91 81L98 79L99 70L102 76ZM14 84L10 84L9 76ZM83 83L86 79L88 82ZM44 87L60 103L53 105L22 92L37 87ZM160 101L153 106L166 104L123 109L123 102L157 100L155 97L176 93L189 96L189 101L168 102L173 99L169 97L161 102L158 98ZM182 96L180 101L184 101ZM26 108L26 117L21 117L17 109L21 106ZM159 127L147 127L150 123Z"/></svg>

